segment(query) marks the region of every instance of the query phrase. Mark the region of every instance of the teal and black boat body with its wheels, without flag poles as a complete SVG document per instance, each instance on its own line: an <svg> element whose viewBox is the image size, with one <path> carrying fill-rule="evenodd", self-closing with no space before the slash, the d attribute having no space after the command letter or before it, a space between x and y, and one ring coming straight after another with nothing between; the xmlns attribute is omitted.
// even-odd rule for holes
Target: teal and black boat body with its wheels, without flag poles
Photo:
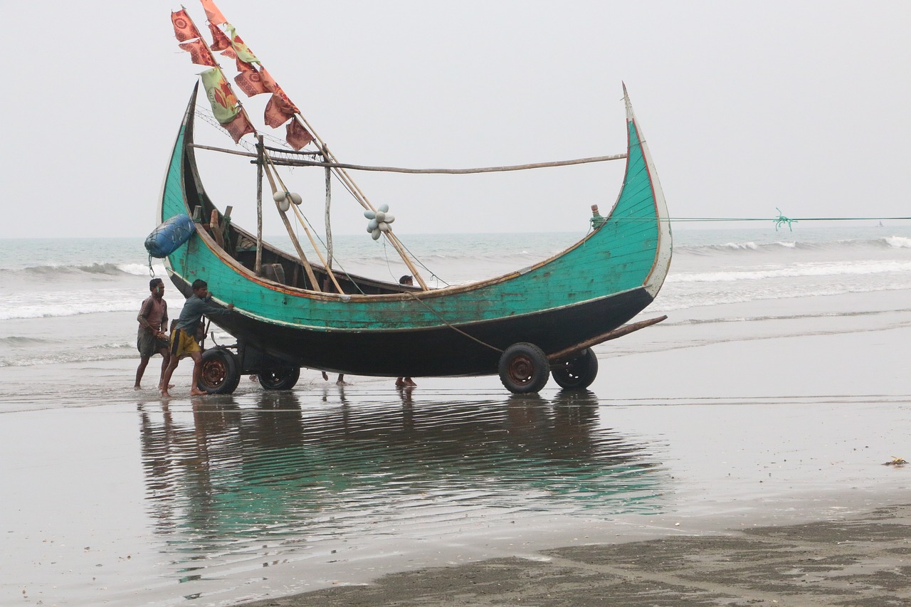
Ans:
<svg viewBox="0 0 911 607"><path fill-rule="evenodd" d="M324 266L305 268L302 256L261 242L210 200L193 144L194 89L159 218L196 221L189 240L165 258L172 282L189 296L190 284L204 279L217 285L217 303L235 306L211 319L238 343L206 352L202 387L231 392L241 374L258 373L263 386L288 388L300 367L390 377L498 373L517 393L537 392L551 372L560 386L589 386L598 371L592 345L664 318L624 325L654 300L671 257L664 197L625 87L624 98L622 188L609 214L595 211L593 229L567 250L513 273L439 289L334 271L341 293L330 293L322 288L330 283Z"/></svg>

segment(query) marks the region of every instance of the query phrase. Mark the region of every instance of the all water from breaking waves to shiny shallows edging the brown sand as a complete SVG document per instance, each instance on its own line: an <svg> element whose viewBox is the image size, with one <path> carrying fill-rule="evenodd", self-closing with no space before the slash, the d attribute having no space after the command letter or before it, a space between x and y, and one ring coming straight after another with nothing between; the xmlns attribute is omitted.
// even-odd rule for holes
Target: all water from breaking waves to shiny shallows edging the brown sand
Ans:
<svg viewBox="0 0 911 607"><path fill-rule="evenodd" d="M710 227L673 225L643 312L666 321L596 346L589 390L530 396L307 369L191 398L181 364L161 398L159 357L133 389L136 315L152 276L182 298L142 238L0 240L0 604L223 607L906 500L882 464L911 448L911 225ZM445 286L584 235L400 238ZM366 234L333 258L409 273Z"/></svg>

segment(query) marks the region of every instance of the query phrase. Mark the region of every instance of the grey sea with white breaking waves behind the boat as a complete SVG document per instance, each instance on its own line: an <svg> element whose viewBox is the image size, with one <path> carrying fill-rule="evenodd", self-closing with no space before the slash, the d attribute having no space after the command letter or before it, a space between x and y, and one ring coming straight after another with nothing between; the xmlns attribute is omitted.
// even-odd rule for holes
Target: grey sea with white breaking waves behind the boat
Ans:
<svg viewBox="0 0 911 607"><path fill-rule="evenodd" d="M468 283L546 259L584 233L403 236L431 286ZM670 275L647 312L911 288L911 222L825 227L674 229ZM267 241L293 251L287 237ZM325 253L324 253L325 254ZM388 245L335 236L335 267L397 282L408 273ZM0 366L132 358L148 280L171 287L141 238L0 240ZM218 293L218 285L210 291ZM169 312L182 298L171 287ZM224 336L228 337L228 336ZM2 388L0 388L2 394Z"/></svg>

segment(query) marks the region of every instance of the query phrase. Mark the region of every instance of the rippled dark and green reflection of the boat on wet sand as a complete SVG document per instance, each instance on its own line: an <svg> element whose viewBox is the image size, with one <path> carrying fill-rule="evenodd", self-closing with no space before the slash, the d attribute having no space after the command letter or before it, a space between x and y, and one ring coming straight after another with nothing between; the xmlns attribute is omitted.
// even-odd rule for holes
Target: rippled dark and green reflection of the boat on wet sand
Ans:
<svg viewBox="0 0 911 607"><path fill-rule="evenodd" d="M225 398L192 417L141 414L149 508L162 532L209 538L200 550L264 529L385 533L371 527L380 513L405 524L476 509L658 508L649 447L600 427L590 393L319 410L293 393L264 393L252 408Z"/></svg>

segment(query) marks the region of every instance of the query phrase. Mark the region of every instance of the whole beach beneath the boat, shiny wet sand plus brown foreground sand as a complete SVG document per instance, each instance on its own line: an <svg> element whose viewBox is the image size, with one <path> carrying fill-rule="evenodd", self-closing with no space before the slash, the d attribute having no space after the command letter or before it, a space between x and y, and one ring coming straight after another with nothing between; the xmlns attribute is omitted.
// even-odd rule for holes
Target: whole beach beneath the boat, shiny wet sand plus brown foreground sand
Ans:
<svg viewBox="0 0 911 607"><path fill-rule="evenodd" d="M582 395L0 368L0 602L900 604L907 302L678 312Z"/></svg>

